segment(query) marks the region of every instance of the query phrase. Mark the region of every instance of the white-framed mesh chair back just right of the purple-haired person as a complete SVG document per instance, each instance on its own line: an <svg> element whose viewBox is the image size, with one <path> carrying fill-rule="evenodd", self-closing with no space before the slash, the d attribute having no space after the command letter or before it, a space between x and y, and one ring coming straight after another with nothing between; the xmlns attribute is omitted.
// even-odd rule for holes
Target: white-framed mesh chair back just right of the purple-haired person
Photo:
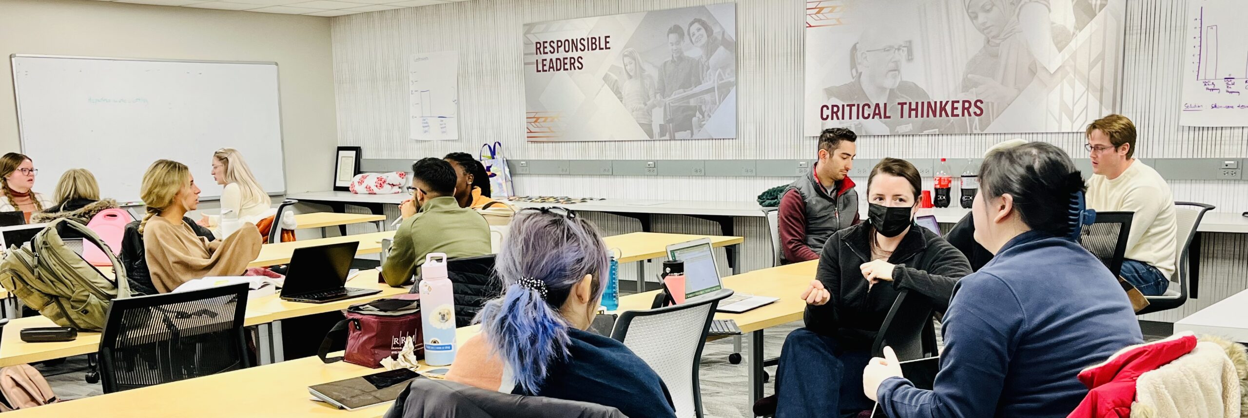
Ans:
<svg viewBox="0 0 1248 418"><path fill-rule="evenodd" d="M676 417L703 416L698 366L715 308L729 296L731 289L719 289L681 304L625 311L615 322L612 338L623 342L663 378L676 406Z"/></svg>

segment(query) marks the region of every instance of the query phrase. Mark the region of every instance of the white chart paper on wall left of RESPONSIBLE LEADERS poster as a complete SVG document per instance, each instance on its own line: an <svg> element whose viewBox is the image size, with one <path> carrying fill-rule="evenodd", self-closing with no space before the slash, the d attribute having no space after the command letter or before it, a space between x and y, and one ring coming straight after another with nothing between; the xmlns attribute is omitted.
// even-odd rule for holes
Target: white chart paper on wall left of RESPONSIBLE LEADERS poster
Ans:
<svg viewBox="0 0 1248 418"><path fill-rule="evenodd" d="M459 52L412 55L408 104L413 140L459 139Z"/></svg>

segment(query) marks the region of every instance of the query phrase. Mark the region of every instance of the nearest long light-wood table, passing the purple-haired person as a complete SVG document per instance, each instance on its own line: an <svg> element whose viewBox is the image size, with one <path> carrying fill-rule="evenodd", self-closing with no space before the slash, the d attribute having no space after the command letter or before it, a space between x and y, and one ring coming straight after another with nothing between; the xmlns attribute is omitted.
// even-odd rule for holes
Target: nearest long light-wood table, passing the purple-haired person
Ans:
<svg viewBox="0 0 1248 418"><path fill-rule="evenodd" d="M766 268L724 278L724 284L741 293L774 296L780 301L740 314L718 313L718 319L736 319L751 334L751 386L761 389L763 329L801 318L805 308L797 296L815 275L817 261ZM629 294L620 307L649 308L653 293ZM462 327L459 341L477 333ZM753 341L758 339L755 344ZM756 362L755 358L756 357ZM758 372L755 372L758 369ZM311 399L308 386L381 372L346 362L323 364L316 357L252 367L248 369L110 393L11 412L12 417L381 417L391 402L357 411L341 411ZM751 389L753 394L753 389Z"/></svg>

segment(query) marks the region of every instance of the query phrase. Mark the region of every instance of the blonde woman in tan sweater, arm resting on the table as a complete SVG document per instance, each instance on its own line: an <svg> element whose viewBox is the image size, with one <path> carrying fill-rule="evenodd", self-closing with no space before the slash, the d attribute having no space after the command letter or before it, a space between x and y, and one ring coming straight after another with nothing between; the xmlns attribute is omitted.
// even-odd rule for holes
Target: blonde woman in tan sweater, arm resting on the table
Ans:
<svg viewBox="0 0 1248 418"><path fill-rule="evenodd" d="M201 277L241 276L260 255L261 237L255 226L208 242L182 222L186 212L200 206L200 187L181 162L154 162L144 173L139 195L147 205L139 233L144 236L152 284L161 293Z"/></svg>

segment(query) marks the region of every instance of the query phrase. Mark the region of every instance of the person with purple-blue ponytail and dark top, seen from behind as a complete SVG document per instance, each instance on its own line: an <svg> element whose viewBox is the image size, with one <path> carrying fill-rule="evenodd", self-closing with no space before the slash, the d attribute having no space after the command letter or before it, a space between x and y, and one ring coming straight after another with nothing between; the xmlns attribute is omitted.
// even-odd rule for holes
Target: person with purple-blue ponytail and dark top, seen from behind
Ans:
<svg viewBox="0 0 1248 418"><path fill-rule="evenodd" d="M504 393L597 403L628 417L675 417L671 394L624 343L587 332L609 266L589 221L525 208L494 265L503 294L485 303L480 333L459 348L447 379Z"/></svg>

